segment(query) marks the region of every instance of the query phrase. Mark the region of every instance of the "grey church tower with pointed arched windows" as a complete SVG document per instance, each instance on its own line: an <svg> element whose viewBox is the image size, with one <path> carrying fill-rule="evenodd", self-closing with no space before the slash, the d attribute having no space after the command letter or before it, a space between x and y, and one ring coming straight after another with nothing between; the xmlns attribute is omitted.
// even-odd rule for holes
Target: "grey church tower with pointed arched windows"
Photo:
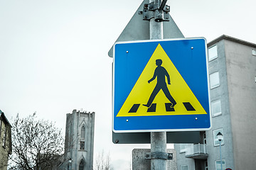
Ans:
<svg viewBox="0 0 256 170"><path fill-rule="evenodd" d="M74 110L66 115L64 164L67 170L91 170L95 113Z"/></svg>

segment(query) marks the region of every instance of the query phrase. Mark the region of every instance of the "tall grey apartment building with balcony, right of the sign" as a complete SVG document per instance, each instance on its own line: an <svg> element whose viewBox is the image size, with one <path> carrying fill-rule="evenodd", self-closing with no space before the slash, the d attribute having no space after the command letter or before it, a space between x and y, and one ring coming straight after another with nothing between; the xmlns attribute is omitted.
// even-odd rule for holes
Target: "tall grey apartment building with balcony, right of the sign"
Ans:
<svg viewBox="0 0 256 170"><path fill-rule="evenodd" d="M256 44L222 35L208 43L212 129L174 145L178 170L256 167ZM217 138L218 132L223 140ZM220 148L221 142L221 148Z"/></svg>

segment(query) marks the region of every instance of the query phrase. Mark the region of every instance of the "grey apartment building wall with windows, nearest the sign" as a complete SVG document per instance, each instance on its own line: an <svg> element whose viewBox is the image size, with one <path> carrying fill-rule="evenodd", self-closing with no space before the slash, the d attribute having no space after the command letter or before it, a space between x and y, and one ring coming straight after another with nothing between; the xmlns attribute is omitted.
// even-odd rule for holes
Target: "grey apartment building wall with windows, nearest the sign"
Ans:
<svg viewBox="0 0 256 170"><path fill-rule="evenodd" d="M233 134L231 130L230 108L228 98L228 80L225 62L225 40L220 40L213 45L217 45L218 57L211 60L209 64L209 75L219 72L220 86L210 89L210 101L220 99L221 115L212 117L212 129L206 132L207 151L208 151L208 169L215 169L215 162L220 160L220 147L214 146L213 130L223 128L222 159L225 160L225 168L234 168L233 161ZM209 47L212 47L210 45Z"/></svg>

